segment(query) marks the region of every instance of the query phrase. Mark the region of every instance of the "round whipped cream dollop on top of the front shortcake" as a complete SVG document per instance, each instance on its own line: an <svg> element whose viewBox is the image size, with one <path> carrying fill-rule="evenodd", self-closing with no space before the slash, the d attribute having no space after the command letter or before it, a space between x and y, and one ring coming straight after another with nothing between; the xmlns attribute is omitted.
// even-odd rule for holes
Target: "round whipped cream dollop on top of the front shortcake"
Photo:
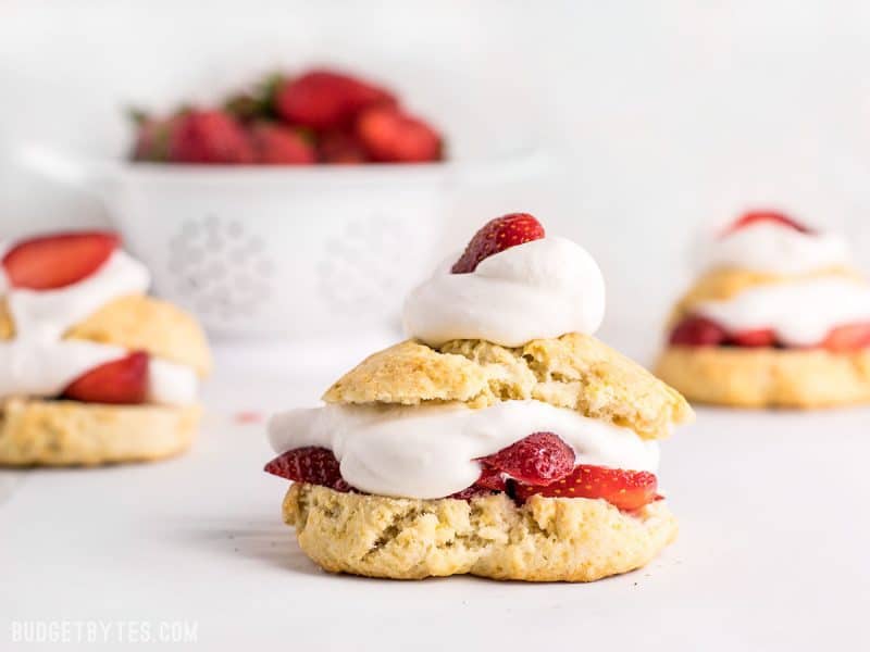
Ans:
<svg viewBox="0 0 870 652"><path fill-rule="evenodd" d="M402 312L409 337L433 347L453 339L519 347L600 326L601 271L571 240L533 240L481 261L470 274L451 274L460 253L409 294Z"/></svg>

